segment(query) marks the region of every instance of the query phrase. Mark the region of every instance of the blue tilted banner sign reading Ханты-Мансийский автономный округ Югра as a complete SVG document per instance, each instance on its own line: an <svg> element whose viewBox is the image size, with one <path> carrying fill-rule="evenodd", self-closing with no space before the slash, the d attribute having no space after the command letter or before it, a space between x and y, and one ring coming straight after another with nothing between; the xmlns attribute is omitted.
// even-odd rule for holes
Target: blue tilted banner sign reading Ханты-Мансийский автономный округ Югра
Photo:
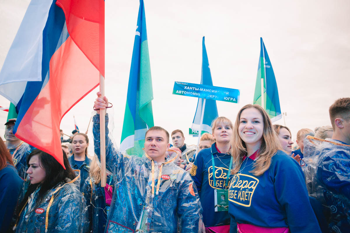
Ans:
<svg viewBox="0 0 350 233"><path fill-rule="evenodd" d="M216 87L189 82L175 82L173 94L198 97L203 99L239 102L239 90L225 87Z"/></svg>

